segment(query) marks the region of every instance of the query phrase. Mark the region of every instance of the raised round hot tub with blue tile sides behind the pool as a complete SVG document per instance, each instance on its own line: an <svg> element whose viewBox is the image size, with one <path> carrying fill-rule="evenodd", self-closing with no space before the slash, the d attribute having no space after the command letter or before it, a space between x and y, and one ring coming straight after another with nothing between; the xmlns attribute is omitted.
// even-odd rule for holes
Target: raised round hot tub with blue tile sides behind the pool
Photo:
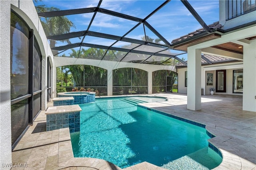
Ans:
<svg viewBox="0 0 256 170"><path fill-rule="evenodd" d="M84 104L95 102L95 92L63 92L58 93L58 98L73 97L74 104Z"/></svg>

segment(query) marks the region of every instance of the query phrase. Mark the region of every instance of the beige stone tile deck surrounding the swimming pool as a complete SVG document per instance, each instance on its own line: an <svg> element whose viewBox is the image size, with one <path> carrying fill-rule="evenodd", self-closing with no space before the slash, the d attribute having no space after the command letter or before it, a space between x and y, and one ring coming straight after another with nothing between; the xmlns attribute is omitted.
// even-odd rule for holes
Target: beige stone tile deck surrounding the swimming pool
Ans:
<svg viewBox="0 0 256 170"><path fill-rule="evenodd" d="M152 94L168 101L141 104L206 125L216 135L209 141L220 149L223 160L216 170L256 170L256 112L242 111L242 96L202 96L202 109L186 109L184 94ZM48 103L51 106L52 103ZM12 169L118 170L118 166L95 158L74 158L68 128L46 132L46 115L41 111L34 125L12 152L12 163L28 167ZM142 162L126 170L162 170Z"/></svg>

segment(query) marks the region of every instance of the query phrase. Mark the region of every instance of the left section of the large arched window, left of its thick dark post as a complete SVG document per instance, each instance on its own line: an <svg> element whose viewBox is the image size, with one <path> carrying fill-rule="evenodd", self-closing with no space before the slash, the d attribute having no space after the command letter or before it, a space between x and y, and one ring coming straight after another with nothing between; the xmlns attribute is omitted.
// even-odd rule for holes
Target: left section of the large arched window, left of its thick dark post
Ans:
<svg viewBox="0 0 256 170"><path fill-rule="evenodd" d="M28 127L29 123L29 28L11 12L10 25L10 90L12 145Z"/></svg>

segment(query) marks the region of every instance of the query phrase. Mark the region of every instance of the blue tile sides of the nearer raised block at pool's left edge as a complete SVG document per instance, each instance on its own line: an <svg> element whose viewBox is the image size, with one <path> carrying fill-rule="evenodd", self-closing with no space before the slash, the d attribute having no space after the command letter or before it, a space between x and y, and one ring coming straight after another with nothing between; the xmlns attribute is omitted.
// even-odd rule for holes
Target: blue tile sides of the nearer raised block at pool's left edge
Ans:
<svg viewBox="0 0 256 170"><path fill-rule="evenodd" d="M46 115L46 131L69 127L70 133L80 131L80 111Z"/></svg>

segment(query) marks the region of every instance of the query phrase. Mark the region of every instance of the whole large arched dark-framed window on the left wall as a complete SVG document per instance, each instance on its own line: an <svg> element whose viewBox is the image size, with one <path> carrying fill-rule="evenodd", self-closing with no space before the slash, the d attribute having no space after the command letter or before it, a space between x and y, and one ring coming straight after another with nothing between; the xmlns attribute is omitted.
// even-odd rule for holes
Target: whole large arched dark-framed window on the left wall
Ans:
<svg viewBox="0 0 256 170"><path fill-rule="evenodd" d="M42 56L33 29L11 11L10 91L12 149L41 109Z"/></svg>

